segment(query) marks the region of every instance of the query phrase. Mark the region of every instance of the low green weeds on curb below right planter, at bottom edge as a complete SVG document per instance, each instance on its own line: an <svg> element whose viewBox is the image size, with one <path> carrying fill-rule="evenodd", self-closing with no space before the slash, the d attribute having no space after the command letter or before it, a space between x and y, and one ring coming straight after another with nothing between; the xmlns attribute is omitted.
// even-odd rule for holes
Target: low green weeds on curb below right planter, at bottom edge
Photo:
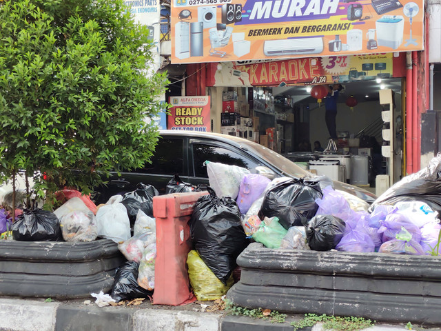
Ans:
<svg viewBox="0 0 441 331"><path fill-rule="evenodd" d="M373 326L375 321L370 319L363 319L362 317L336 317L327 316L326 314L305 314L304 319L301 321L292 322L294 331L300 328L307 328L315 325L316 323L323 323L324 330L333 331L359 331Z"/></svg>

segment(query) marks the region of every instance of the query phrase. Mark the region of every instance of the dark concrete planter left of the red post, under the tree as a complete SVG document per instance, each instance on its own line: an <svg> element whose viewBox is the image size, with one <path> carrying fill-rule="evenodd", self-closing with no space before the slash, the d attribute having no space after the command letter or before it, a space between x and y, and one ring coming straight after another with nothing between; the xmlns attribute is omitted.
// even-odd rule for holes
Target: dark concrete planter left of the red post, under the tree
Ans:
<svg viewBox="0 0 441 331"><path fill-rule="evenodd" d="M125 263L113 241L0 241L0 295L83 298L109 291Z"/></svg>

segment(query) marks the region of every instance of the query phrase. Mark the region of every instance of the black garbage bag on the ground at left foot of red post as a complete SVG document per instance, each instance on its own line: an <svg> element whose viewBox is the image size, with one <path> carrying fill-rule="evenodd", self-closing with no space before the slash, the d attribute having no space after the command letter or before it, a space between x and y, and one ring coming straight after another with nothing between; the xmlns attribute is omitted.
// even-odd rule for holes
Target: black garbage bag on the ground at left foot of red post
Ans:
<svg viewBox="0 0 441 331"><path fill-rule="evenodd" d="M152 296L153 291L145 290L138 285L138 268L139 263L127 261L116 272L110 294L116 302Z"/></svg>

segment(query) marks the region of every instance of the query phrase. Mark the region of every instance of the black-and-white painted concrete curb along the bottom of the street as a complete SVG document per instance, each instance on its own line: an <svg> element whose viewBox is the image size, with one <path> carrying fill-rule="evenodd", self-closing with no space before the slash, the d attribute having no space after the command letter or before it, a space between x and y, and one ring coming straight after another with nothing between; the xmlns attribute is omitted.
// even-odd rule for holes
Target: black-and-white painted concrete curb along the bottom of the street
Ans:
<svg viewBox="0 0 441 331"><path fill-rule="evenodd" d="M199 303L180 307L152 305L99 308L91 297L85 300L45 302L44 299L0 298L0 331L292 331L289 315L285 323L227 315L223 311L203 312ZM211 302L202 303L210 305ZM299 329L303 331L311 328ZM320 331L320 325L312 331ZM376 323L370 331L407 330L404 325ZM413 330L423 330L414 328ZM424 330L441 331L440 328Z"/></svg>

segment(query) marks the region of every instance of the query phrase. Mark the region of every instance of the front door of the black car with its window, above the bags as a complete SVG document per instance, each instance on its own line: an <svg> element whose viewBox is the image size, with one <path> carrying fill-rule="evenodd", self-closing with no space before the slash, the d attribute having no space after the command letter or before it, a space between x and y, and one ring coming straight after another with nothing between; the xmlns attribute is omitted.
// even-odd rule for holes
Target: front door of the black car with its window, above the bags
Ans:
<svg viewBox="0 0 441 331"><path fill-rule="evenodd" d="M261 161L247 154L245 150L221 141L189 139L189 182L195 185L208 183L205 161L238 165L253 170L263 165Z"/></svg>

